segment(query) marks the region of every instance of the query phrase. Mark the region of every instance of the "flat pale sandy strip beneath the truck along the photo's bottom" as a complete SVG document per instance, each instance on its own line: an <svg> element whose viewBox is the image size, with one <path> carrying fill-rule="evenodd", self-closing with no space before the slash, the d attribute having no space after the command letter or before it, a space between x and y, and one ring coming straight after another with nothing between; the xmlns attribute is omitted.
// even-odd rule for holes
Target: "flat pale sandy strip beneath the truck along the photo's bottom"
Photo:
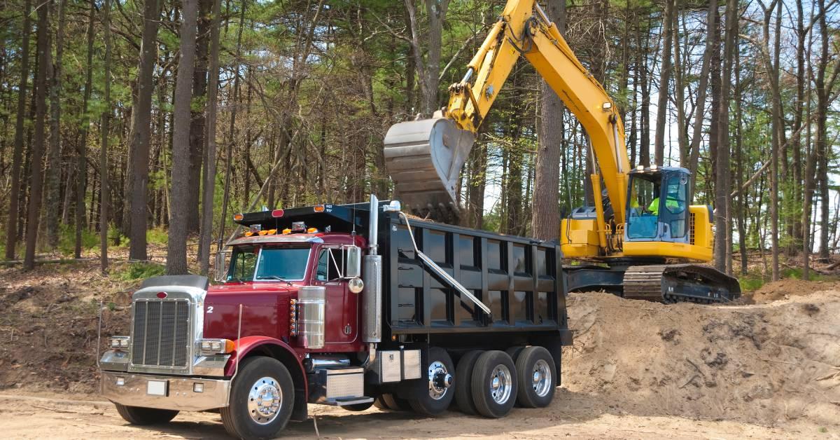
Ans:
<svg viewBox="0 0 840 440"><path fill-rule="evenodd" d="M458 412L430 419L410 412L375 408L350 413L310 406L321 437L330 438L840 438L817 427L762 427L734 421L695 421L676 416L638 416L609 408L596 396L559 389L554 405L543 410L516 409L506 418L487 420ZM162 427L134 427L107 401L96 396L32 393L0 395L0 428L6 438L228 438L218 414L182 413ZM606 411L604 408L606 407ZM283 438L314 438L313 421L291 422Z"/></svg>

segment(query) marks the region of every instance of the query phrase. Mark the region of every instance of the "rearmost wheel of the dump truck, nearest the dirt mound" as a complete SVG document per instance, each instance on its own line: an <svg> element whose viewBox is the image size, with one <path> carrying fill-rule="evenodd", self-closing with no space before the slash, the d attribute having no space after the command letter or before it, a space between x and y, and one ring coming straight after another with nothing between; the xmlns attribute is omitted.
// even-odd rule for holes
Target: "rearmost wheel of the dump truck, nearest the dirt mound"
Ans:
<svg viewBox="0 0 840 440"><path fill-rule="evenodd" d="M519 405L526 408L549 406L557 386L555 371L554 359L545 348L533 346L522 350L517 359Z"/></svg>

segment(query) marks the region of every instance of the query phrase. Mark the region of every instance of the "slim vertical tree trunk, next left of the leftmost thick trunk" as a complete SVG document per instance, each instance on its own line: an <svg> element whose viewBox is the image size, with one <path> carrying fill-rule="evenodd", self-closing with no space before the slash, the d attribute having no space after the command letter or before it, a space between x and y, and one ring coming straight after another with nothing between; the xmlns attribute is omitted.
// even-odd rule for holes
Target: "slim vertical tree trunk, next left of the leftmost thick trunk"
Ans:
<svg viewBox="0 0 840 440"><path fill-rule="evenodd" d="M102 111L102 148L99 150L99 268L108 271L108 221L111 204L111 183L108 181L108 135L111 125L111 0L103 6L102 28L105 29L105 109Z"/></svg>

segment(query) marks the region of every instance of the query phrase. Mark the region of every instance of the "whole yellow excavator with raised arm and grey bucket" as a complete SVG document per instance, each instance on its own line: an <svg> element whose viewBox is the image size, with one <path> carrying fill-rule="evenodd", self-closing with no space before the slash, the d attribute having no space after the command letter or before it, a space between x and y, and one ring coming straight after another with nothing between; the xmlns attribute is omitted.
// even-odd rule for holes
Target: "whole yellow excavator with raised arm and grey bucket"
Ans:
<svg viewBox="0 0 840 440"><path fill-rule="evenodd" d="M594 204L573 209L559 225L566 288L666 303L736 299L738 280L702 264L712 258L712 210L689 204L690 172L630 167L616 104L534 0L508 0L464 78L449 87L446 107L388 130L386 167L403 205L438 221L457 218L459 172L519 56L591 141Z"/></svg>

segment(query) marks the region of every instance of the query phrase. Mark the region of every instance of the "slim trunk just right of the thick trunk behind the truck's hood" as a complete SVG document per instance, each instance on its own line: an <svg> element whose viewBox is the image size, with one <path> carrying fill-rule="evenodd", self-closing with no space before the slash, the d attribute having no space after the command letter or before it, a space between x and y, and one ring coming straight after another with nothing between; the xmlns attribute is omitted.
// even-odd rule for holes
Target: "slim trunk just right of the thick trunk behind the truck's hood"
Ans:
<svg viewBox="0 0 840 440"><path fill-rule="evenodd" d="M207 87L207 130L204 134L204 185L202 188L202 227L199 237L198 261L202 275L210 272L210 243L213 239L213 195L216 188L216 114L218 99L219 25L222 22L222 3L213 0L210 24L210 77ZM222 219L224 221L224 219ZM221 249L218 249L221 252ZM217 272L222 268L214 268Z"/></svg>

